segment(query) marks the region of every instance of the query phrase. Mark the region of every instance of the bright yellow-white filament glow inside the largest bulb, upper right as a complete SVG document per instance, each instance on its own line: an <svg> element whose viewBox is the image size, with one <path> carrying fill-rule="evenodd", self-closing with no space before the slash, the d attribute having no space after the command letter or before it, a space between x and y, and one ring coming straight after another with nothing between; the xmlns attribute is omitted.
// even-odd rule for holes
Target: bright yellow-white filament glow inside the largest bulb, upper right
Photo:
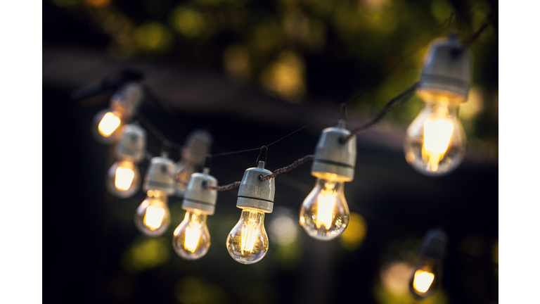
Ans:
<svg viewBox="0 0 540 304"><path fill-rule="evenodd" d="M432 171L437 171L439 160L444 157L444 152L448 148L454 124L444 118L427 118L424 121L424 145L422 157L428 158Z"/></svg>

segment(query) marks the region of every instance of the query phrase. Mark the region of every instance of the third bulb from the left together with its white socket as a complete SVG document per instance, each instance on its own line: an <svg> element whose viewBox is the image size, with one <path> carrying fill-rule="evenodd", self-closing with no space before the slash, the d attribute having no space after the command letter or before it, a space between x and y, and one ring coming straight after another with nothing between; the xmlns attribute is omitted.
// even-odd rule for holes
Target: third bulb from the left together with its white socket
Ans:
<svg viewBox="0 0 540 304"><path fill-rule="evenodd" d="M174 179L170 175L173 169L174 164L167 158L167 153L150 160L143 183L148 196L135 213L136 227L147 236L160 236L169 228L171 213L167 203L168 196L174 193Z"/></svg>

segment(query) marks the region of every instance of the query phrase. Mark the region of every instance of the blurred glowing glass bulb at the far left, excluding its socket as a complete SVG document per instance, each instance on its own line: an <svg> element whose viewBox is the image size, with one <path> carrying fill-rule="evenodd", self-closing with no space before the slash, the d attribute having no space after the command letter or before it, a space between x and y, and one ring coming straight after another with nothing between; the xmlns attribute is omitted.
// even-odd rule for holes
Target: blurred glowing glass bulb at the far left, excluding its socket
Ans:
<svg viewBox="0 0 540 304"><path fill-rule="evenodd" d="M94 137L103 144L112 144L117 141L120 125L122 125L122 115L110 108L99 111L94 116L94 122L92 124L92 134Z"/></svg>

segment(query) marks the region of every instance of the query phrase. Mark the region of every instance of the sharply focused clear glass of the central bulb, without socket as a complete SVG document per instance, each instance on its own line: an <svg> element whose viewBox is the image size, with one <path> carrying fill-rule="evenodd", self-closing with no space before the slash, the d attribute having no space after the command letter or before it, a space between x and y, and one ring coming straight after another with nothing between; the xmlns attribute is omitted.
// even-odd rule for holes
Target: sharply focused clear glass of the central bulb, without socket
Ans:
<svg viewBox="0 0 540 304"><path fill-rule="evenodd" d="M259 262L268 251L268 236L264 229L264 212L245 208L238 224L227 236L227 251L236 262Z"/></svg>

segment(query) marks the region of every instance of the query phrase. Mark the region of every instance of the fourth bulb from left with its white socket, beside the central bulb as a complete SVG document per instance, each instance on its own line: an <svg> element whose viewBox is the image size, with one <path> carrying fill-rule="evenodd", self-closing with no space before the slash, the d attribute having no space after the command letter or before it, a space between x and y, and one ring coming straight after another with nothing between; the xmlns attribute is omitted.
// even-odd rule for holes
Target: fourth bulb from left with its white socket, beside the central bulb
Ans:
<svg viewBox="0 0 540 304"><path fill-rule="evenodd" d="M186 260L202 258L210 248L210 233L206 226L207 215L213 215L217 201L217 191L205 186L217 186L217 179L203 173L193 173L182 202L186 210L184 220L174 230L172 246L174 251Z"/></svg>

